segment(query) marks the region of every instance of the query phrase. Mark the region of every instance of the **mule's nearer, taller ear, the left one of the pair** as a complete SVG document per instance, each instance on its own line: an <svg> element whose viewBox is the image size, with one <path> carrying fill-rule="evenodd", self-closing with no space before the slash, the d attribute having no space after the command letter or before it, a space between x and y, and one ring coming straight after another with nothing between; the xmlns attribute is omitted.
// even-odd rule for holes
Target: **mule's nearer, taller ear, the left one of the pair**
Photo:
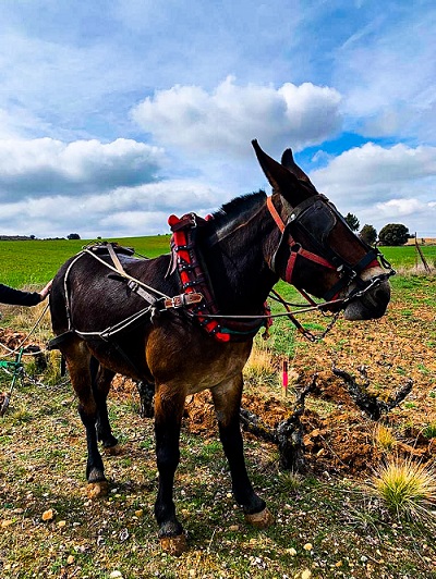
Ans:
<svg viewBox="0 0 436 579"><path fill-rule="evenodd" d="M252 140L256 157L275 193L282 195L292 206L311 196L299 178L286 167L275 161L261 149L256 139Z"/></svg>

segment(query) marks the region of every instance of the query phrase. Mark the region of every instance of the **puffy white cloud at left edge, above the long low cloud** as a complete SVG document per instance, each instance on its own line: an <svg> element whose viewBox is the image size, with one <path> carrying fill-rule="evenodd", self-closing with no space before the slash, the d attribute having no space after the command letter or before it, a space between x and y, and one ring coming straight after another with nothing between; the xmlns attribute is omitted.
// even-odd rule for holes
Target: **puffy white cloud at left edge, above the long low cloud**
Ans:
<svg viewBox="0 0 436 579"><path fill-rule="evenodd" d="M113 189L155 181L164 150L119 138L102 144L51 138L0 140L0 198Z"/></svg>

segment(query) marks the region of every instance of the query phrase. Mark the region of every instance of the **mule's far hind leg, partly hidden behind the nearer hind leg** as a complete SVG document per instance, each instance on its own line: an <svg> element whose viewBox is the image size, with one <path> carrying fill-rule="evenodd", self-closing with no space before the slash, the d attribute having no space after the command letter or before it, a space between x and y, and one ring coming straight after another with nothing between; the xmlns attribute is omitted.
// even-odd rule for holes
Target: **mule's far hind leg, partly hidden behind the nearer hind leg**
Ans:
<svg viewBox="0 0 436 579"><path fill-rule="evenodd" d="M110 384L116 375L112 370L101 366L94 357L89 364L90 375L93 381L93 394L97 405L97 440L102 443L108 454L118 454L118 440L113 436L110 428L107 398Z"/></svg>

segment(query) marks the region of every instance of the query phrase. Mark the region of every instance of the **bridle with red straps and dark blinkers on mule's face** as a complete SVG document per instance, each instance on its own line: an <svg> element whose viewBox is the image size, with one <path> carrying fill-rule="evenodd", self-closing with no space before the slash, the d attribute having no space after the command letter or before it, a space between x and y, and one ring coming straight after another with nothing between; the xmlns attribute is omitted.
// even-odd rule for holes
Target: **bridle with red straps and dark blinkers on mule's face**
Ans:
<svg viewBox="0 0 436 579"><path fill-rule="evenodd" d="M287 204L286 200L282 202ZM290 254L284 270L284 275L280 275L282 280L292 284L294 274L296 258L300 256L313 263L317 263L329 270L335 270L339 273L340 278L323 296L326 301L336 299L339 293L349 287L351 283L355 283L355 290L348 296L348 298L362 295L366 293L374 285L380 284L387 280L390 275L395 274L395 271L390 267L390 263L385 259L383 254L377 249L370 247L360 239L360 243L366 250L363 258L358 263L349 263L341 255L331 249L328 246L328 235L339 221L342 221L344 226L348 227L347 222L336 210L336 208L329 202L324 195L314 195L308 199L305 199L296 207L289 206L289 218L284 224L279 212L272 204L272 198L267 198L267 208L281 232L281 238L279 245L272 255L270 260L270 268L277 272L277 257L283 246L289 246ZM295 233L303 233L305 238L310 239L311 246L316 252L304 249L302 245L294 239ZM388 270L387 273L382 273L374 276L371 282L365 282L360 278L360 274L370 268L379 267L378 258L380 258L382 264ZM301 290L300 290L301 291ZM303 295L312 301L311 298L303 291ZM348 299L349 300L349 299ZM347 301L348 301L347 300Z"/></svg>

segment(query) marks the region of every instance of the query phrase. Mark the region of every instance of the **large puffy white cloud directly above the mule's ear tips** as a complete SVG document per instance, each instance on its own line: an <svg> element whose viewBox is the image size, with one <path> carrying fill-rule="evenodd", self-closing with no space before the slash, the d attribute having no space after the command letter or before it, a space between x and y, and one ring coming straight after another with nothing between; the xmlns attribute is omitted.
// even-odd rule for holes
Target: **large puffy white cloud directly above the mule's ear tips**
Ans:
<svg viewBox="0 0 436 579"><path fill-rule="evenodd" d="M337 90L312 83L286 83L276 89L239 86L228 76L210 93L179 85L158 90L132 115L158 143L186 155L244 157L251 153L252 138L267 149L323 141L340 128L339 102Z"/></svg>

